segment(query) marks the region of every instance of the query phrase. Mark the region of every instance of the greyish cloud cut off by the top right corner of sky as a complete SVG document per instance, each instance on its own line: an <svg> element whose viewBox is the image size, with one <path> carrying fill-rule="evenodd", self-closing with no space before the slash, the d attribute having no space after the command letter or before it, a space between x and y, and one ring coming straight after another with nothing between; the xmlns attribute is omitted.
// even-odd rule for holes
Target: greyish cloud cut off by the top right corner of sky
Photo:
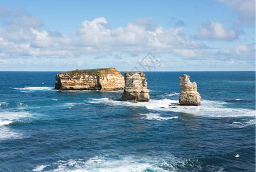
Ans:
<svg viewBox="0 0 256 172"><path fill-rule="evenodd" d="M240 14L238 24L255 26L255 0L217 0Z"/></svg>

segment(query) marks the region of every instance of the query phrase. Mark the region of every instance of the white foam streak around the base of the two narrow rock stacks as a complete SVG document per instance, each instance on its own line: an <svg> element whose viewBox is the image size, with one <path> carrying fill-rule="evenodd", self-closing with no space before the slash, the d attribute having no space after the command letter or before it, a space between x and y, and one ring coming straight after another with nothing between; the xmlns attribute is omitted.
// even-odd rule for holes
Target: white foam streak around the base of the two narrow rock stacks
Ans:
<svg viewBox="0 0 256 172"><path fill-rule="evenodd" d="M178 100L170 99L151 99L149 102L138 102L133 103L129 101L112 101L107 97L101 99L91 99L89 103L103 103L106 105L122 105L131 107L146 107L148 110L155 111L172 111L180 112L198 116L208 117L241 117L241 116L255 116L255 110L244 109L244 108L229 108L225 107L227 102L224 101L211 101L202 100L198 106L182 106L178 105Z"/></svg>

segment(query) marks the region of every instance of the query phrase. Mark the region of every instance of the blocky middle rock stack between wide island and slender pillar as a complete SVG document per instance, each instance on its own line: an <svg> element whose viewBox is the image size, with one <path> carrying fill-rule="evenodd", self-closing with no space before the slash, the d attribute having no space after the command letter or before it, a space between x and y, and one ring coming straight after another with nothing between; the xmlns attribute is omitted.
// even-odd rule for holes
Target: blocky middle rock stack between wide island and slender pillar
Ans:
<svg viewBox="0 0 256 172"><path fill-rule="evenodd" d="M146 77L142 72L125 73L125 90L121 101L149 101L149 89L146 88Z"/></svg>

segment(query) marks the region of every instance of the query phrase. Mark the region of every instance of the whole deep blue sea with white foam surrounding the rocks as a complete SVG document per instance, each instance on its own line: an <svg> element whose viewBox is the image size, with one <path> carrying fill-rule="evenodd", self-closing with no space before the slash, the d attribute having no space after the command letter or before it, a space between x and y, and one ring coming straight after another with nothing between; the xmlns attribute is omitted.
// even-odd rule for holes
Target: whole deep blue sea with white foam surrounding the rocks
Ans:
<svg viewBox="0 0 256 172"><path fill-rule="evenodd" d="M55 91L57 73L0 72L0 171L255 171L255 72L145 73L148 103ZM183 73L198 107L168 106Z"/></svg>

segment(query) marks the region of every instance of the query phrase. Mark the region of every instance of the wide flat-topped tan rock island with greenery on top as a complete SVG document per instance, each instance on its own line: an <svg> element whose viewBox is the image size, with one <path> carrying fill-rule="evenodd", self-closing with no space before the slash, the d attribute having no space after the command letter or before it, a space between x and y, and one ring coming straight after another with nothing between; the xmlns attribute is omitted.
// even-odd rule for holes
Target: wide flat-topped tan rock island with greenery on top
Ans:
<svg viewBox="0 0 256 172"><path fill-rule="evenodd" d="M115 91L125 87L125 79L115 68L86 69L62 72L55 77L59 90Z"/></svg>

